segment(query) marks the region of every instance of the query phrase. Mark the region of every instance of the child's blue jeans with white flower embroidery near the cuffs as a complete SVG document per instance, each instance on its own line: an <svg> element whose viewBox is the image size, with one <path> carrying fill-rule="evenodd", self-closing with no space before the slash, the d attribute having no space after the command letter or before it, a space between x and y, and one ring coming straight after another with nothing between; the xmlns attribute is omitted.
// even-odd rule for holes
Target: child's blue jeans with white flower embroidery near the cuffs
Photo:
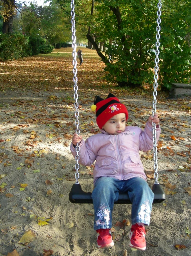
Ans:
<svg viewBox="0 0 191 256"><path fill-rule="evenodd" d="M144 179L135 177L119 180L100 177L92 192L95 230L112 227L113 205L118 200L119 192L127 192L132 202L132 224L142 222L149 225L154 193Z"/></svg>

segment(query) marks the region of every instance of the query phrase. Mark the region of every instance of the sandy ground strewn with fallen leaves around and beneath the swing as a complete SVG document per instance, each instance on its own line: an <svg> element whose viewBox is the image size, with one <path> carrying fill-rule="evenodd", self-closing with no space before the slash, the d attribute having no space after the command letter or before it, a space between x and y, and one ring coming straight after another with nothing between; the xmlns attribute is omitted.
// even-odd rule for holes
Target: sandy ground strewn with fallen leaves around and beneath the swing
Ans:
<svg viewBox="0 0 191 256"><path fill-rule="evenodd" d="M80 93L84 139L98 131L95 115L90 111L94 96L106 97L108 92ZM145 93L124 96L124 92L114 90L112 93L127 105L129 124L144 127L151 113L152 92L151 96ZM159 180L166 189L166 201L153 204L151 223L147 227L147 249L132 251L128 246L131 223L115 226L124 219L131 222L131 205L114 205L115 246L98 249L92 228L93 205L69 202L75 180L75 160L70 153L70 135L74 132L72 97L70 90L58 90L54 94L43 90L6 90L1 94L0 255L14 249L20 256L43 255L44 249L52 250L54 256L191 255L191 196L184 189L191 187L191 100L159 97L157 107L162 130L158 148ZM153 170L152 151L140 154L149 174ZM93 167L80 168L79 181L85 191L93 189L92 171ZM148 178L150 186L153 182ZM21 184L28 184L23 191ZM39 226L43 217L49 219L48 224ZM34 232L36 239L19 243L28 230ZM178 250L175 245L185 247Z"/></svg>

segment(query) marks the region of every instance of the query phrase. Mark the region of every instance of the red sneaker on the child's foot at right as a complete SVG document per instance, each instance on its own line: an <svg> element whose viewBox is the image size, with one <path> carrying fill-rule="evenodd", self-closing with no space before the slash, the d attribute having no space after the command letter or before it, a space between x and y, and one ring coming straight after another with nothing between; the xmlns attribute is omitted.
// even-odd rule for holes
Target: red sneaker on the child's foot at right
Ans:
<svg viewBox="0 0 191 256"><path fill-rule="evenodd" d="M146 249L145 234L144 226L139 226L137 223L132 225L129 232L129 246L144 251Z"/></svg>

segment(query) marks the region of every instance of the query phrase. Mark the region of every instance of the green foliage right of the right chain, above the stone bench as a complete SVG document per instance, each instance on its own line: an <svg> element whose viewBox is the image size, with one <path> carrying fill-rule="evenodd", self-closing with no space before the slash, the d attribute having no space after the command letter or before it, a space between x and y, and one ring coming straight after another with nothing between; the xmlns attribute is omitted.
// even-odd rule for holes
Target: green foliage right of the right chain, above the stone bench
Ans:
<svg viewBox="0 0 191 256"><path fill-rule="evenodd" d="M191 2L167 2L161 23L160 84L170 89L171 82L191 81Z"/></svg>

